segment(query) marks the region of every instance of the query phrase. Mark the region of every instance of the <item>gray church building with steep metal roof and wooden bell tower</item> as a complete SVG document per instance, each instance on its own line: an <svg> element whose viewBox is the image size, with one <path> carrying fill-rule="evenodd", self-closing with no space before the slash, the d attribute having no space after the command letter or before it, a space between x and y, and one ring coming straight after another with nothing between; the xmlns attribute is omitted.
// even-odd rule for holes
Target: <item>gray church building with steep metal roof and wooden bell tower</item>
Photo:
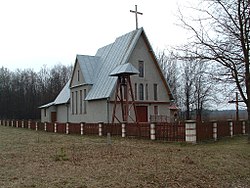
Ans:
<svg viewBox="0 0 250 188"><path fill-rule="evenodd" d="M130 84L118 88L124 73ZM139 28L99 48L95 56L77 55L71 79L53 102L39 108L42 122L117 123L124 121L124 111L127 122L170 122L176 113L172 102L167 80Z"/></svg>

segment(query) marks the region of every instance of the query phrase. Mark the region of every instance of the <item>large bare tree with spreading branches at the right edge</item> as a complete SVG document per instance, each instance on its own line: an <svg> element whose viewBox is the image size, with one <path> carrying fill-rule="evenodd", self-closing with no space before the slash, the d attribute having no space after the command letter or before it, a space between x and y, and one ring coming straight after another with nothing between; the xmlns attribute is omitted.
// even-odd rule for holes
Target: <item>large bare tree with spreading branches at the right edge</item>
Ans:
<svg viewBox="0 0 250 188"><path fill-rule="evenodd" d="M234 82L247 106L250 141L249 0L200 2L199 7L192 7L198 12L195 19L187 20L181 14L182 25L193 33L182 49L188 52L188 57L216 62L223 67L221 79Z"/></svg>

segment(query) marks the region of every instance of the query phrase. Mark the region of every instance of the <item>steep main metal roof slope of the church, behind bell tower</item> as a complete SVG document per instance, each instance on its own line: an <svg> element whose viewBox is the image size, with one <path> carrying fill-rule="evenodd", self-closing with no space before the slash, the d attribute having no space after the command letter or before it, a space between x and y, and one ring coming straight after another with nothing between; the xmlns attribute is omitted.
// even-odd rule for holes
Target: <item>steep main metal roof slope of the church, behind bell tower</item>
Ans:
<svg viewBox="0 0 250 188"><path fill-rule="evenodd" d="M96 56L100 57L100 72L86 100L102 99L111 96L117 78L110 77L109 74L117 66L128 62L142 31L143 28L140 28L127 33L118 37L114 43L97 51Z"/></svg>

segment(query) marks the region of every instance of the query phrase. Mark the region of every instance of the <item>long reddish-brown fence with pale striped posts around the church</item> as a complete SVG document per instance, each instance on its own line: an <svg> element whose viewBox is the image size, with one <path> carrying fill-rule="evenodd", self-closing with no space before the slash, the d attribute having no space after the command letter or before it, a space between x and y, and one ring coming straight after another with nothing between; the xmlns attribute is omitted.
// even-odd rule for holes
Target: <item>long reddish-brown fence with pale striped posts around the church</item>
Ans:
<svg viewBox="0 0 250 188"><path fill-rule="evenodd" d="M196 143L202 140L246 134L248 127L245 121L212 121L200 122L189 120L185 123L42 123L25 120L0 120L0 125L17 128L28 128L61 134L99 135L135 137L151 140L177 141Z"/></svg>

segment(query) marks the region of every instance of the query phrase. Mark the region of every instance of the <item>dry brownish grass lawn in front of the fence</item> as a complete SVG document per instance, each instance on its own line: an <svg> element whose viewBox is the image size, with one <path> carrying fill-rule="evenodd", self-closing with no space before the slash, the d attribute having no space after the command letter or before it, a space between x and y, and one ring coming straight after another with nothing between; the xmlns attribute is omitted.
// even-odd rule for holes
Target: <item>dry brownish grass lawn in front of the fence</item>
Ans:
<svg viewBox="0 0 250 188"><path fill-rule="evenodd" d="M247 137L189 145L0 126L0 187L250 187Z"/></svg>

